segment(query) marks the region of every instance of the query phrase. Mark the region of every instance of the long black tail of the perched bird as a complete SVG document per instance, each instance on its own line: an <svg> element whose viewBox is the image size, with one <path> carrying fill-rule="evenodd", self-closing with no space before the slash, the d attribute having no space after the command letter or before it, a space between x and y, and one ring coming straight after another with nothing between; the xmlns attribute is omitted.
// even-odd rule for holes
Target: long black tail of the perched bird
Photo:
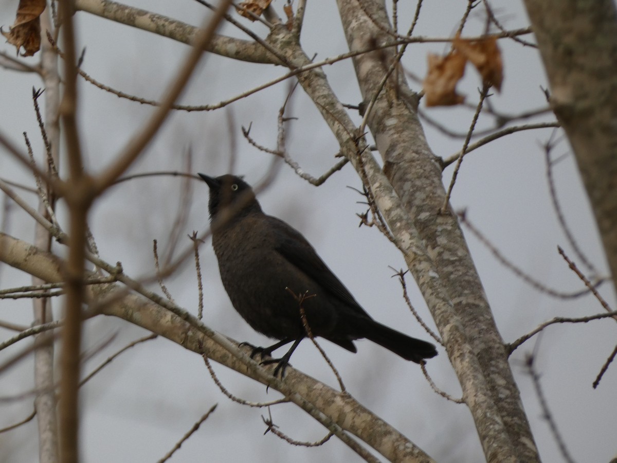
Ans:
<svg viewBox="0 0 617 463"><path fill-rule="evenodd" d="M404 335L397 330L386 327L386 325L375 322L375 320L365 320L361 324L365 325L363 337L394 352L405 360L419 364L424 359L430 359L437 355L437 349L433 344Z"/></svg>

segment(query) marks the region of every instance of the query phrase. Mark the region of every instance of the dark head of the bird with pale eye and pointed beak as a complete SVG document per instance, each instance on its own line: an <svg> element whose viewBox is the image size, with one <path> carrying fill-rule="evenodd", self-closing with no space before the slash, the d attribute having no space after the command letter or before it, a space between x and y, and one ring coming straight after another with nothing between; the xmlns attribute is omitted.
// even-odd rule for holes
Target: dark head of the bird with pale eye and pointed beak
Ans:
<svg viewBox="0 0 617 463"><path fill-rule="evenodd" d="M230 174L220 177L209 177L203 173L198 175L210 187L210 201L208 201L210 220L215 219L219 212L228 207L234 215L261 211L251 185L242 180L241 177Z"/></svg>

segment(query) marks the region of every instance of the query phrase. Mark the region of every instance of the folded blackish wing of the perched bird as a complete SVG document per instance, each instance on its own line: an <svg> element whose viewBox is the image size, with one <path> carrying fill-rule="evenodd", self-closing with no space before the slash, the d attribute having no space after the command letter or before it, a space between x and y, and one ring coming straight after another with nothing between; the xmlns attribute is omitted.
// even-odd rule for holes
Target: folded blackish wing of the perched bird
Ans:
<svg viewBox="0 0 617 463"><path fill-rule="evenodd" d="M299 231L276 217L270 216L268 219L271 221L272 229L275 230L276 234L275 249L280 252L281 256L306 273L326 291L344 302L358 315L365 315L370 318Z"/></svg>

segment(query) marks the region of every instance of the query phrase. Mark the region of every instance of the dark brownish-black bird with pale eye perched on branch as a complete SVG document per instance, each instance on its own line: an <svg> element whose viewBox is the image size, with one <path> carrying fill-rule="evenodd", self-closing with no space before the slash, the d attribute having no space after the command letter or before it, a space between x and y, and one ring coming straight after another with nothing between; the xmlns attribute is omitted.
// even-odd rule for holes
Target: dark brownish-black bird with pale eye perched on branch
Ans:
<svg viewBox="0 0 617 463"><path fill-rule="evenodd" d="M292 352L307 336L300 304L313 336L348 351L356 352L354 340L367 338L416 363L437 355L433 344L373 320L299 231L262 212L244 180L199 176L210 187L212 246L231 303L254 330L280 340L255 348L253 356L261 352L263 359L294 342L280 359L262 362L278 363L275 376L281 369L284 375Z"/></svg>

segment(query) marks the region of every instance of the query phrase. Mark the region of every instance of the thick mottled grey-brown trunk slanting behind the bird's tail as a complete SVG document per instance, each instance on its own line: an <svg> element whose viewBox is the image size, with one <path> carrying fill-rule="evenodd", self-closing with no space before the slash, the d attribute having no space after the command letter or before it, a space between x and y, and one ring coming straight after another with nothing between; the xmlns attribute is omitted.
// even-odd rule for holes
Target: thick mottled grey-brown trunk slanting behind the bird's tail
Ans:
<svg viewBox="0 0 617 463"><path fill-rule="evenodd" d="M383 2L362 0L362 7L345 0L338 4L350 50L391 40L384 33L390 24ZM391 49L354 58L365 102L375 95L393 58ZM451 211L439 214L445 198L441 169L426 143L413 98L405 98L412 95L402 73L398 81L389 79L373 107L368 127L383 157L384 172L437 270L436 275L425 272L418 275L419 279L416 276L416 281L445 341L487 461L537 461L507 352L457 218ZM413 272L415 257L406 256L410 270L417 274ZM442 294L449 294L450 306L433 303L428 280L435 278L442 285Z"/></svg>

